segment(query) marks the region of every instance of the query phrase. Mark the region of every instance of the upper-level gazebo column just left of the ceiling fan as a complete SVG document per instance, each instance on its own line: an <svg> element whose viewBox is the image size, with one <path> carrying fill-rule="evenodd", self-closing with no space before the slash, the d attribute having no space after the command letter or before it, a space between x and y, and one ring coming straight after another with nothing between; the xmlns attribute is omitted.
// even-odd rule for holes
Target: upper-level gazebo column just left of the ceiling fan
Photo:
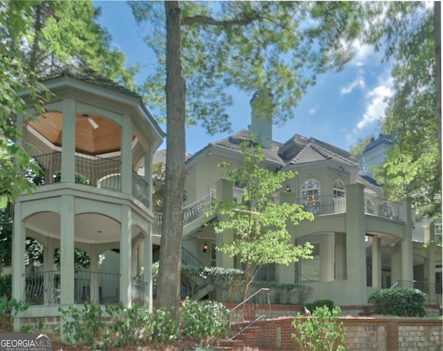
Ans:
<svg viewBox="0 0 443 351"><path fill-rule="evenodd" d="M75 101L63 99L62 182L75 182Z"/></svg>

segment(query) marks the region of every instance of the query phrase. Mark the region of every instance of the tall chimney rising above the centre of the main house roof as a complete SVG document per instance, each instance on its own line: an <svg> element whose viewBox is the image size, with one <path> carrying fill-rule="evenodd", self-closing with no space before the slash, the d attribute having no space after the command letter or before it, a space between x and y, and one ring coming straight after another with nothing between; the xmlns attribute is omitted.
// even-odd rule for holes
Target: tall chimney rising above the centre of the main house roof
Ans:
<svg viewBox="0 0 443 351"><path fill-rule="evenodd" d="M251 99L251 135L255 134L257 143L264 148L271 148L272 145L272 105L273 94L266 90L255 92Z"/></svg>

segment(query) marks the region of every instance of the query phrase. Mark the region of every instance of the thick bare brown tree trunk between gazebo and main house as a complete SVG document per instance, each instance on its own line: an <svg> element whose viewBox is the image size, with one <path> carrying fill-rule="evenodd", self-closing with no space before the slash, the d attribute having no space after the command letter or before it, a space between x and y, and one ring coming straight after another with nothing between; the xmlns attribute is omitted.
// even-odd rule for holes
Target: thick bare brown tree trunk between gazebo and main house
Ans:
<svg viewBox="0 0 443 351"><path fill-rule="evenodd" d="M166 30L166 173L164 211L161 225L159 307L179 321L182 202L185 182L185 96L181 67L181 10L178 1L165 1Z"/></svg>

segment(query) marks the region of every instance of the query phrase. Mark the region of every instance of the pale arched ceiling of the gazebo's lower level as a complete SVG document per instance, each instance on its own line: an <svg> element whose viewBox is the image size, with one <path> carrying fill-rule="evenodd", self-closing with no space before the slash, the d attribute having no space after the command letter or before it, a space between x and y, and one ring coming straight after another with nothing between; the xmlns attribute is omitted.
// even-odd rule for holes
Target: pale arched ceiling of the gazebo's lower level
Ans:
<svg viewBox="0 0 443 351"><path fill-rule="evenodd" d="M60 239L60 215L40 212L26 221L26 228ZM120 241L120 223L101 214L78 214L74 218L74 240L82 243Z"/></svg>

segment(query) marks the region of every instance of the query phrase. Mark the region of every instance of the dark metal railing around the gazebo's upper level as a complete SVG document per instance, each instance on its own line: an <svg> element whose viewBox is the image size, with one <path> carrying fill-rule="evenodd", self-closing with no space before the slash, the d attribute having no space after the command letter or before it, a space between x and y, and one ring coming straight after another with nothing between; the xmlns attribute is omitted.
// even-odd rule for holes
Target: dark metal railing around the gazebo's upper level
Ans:
<svg viewBox="0 0 443 351"><path fill-rule="evenodd" d="M42 173L36 176L37 185L60 182L62 174L62 153L49 153L35 156ZM75 182L93 187L121 191L120 161L107 158L76 154L75 155ZM150 205L149 185L135 171L132 171L132 196L143 205Z"/></svg>

